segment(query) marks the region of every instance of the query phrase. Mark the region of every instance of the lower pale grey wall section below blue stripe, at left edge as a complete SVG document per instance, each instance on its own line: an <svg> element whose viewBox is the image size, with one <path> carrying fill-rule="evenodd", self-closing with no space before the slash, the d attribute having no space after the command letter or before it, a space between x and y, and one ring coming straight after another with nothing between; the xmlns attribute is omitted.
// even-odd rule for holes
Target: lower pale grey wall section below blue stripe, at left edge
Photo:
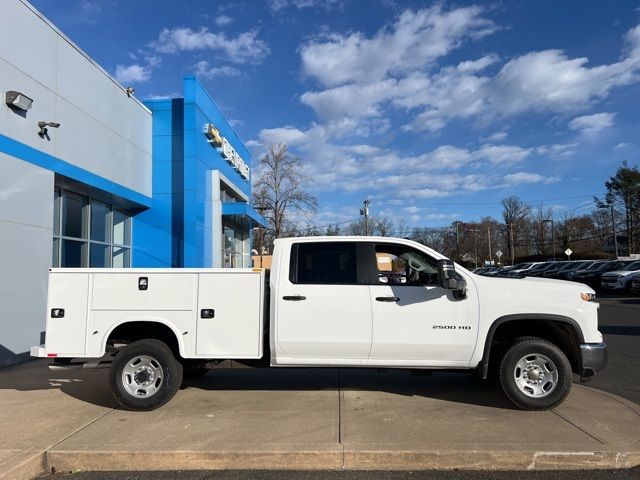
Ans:
<svg viewBox="0 0 640 480"><path fill-rule="evenodd" d="M40 343L53 236L53 172L0 153L0 366ZM22 354L21 356L16 356Z"/></svg>

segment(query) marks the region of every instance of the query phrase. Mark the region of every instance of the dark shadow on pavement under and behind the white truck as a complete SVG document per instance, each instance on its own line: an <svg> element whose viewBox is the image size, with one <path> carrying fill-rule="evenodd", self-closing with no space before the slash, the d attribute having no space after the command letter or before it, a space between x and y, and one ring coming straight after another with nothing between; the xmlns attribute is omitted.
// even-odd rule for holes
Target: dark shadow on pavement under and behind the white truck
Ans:
<svg viewBox="0 0 640 480"><path fill-rule="evenodd" d="M108 408L117 406L108 385L108 370L50 371L45 361L0 370L0 390L60 390L78 400ZM321 368L214 368L201 378L185 379L183 389L216 391L379 391L403 396L514 409L487 381L468 373L413 375L410 371Z"/></svg>

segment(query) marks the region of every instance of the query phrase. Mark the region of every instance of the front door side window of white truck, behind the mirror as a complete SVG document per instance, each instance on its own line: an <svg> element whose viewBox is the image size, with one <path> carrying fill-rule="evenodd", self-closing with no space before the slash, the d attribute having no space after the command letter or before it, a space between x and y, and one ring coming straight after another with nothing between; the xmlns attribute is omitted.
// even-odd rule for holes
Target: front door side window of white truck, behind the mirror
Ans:
<svg viewBox="0 0 640 480"><path fill-rule="evenodd" d="M380 284L438 284L436 260L426 253L405 245L376 244L376 265Z"/></svg>

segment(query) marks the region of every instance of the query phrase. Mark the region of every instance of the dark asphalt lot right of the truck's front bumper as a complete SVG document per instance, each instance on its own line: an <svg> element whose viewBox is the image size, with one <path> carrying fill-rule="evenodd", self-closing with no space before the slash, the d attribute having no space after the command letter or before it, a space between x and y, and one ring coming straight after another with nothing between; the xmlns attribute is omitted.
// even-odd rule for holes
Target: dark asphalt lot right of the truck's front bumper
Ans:
<svg viewBox="0 0 640 480"><path fill-rule="evenodd" d="M640 404L640 297L599 301L609 364L587 385Z"/></svg>

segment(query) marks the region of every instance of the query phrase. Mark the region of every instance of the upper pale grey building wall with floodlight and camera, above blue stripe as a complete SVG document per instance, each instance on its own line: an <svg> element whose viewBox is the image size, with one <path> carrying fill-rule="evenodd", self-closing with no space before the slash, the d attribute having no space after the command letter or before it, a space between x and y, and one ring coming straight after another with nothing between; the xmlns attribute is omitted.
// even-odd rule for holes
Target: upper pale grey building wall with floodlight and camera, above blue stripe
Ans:
<svg viewBox="0 0 640 480"><path fill-rule="evenodd" d="M151 112L27 2L2 0L0 18L0 134L151 196ZM33 108L7 108L7 90ZM61 126L46 140L38 121Z"/></svg>

